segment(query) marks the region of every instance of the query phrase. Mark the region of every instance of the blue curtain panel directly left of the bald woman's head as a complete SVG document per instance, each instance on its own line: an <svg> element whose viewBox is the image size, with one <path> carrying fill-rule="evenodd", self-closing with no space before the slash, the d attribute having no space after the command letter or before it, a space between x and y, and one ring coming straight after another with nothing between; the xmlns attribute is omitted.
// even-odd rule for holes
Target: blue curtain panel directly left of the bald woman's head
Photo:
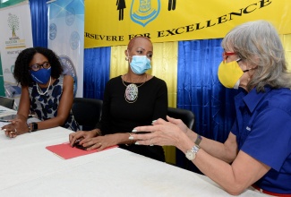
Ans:
<svg viewBox="0 0 291 197"><path fill-rule="evenodd" d="M84 50L84 98L103 99L110 74L110 56L111 47Z"/></svg>

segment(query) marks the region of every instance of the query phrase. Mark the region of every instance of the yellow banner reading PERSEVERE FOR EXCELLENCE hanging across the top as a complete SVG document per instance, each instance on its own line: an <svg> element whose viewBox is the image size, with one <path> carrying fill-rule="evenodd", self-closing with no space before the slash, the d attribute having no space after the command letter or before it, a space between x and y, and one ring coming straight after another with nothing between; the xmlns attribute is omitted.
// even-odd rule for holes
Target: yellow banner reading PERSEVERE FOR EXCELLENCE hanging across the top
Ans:
<svg viewBox="0 0 291 197"><path fill-rule="evenodd" d="M126 45L139 35L152 42L218 39L255 20L287 34L290 8L290 0L86 0L85 47Z"/></svg>

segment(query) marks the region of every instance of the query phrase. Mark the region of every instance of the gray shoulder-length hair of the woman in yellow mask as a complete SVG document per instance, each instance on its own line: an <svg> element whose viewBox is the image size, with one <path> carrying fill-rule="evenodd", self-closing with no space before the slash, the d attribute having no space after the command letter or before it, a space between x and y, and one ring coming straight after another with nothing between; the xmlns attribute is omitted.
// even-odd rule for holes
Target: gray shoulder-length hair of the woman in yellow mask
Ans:
<svg viewBox="0 0 291 197"><path fill-rule="evenodd" d="M270 88L291 88L291 73L287 72L285 51L278 32L268 21L249 21L235 27L222 40L225 50L235 52L245 63L257 69L247 90L256 87L264 91Z"/></svg>

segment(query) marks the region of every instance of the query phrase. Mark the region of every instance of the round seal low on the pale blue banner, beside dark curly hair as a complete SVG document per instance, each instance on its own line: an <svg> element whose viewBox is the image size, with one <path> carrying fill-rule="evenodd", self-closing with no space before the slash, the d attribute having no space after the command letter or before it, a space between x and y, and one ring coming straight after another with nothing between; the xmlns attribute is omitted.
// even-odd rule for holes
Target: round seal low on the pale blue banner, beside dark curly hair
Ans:
<svg viewBox="0 0 291 197"><path fill-rule="evenodd" d="M68 56L59 56L61 60L61 64L63 65L64 75L71 75L73 77L73 96L76 95L77 92L77 84L78 84L78 79L77 79L77 74L75 67L73 65L73 61L71 60L70 57Z"/></svg>

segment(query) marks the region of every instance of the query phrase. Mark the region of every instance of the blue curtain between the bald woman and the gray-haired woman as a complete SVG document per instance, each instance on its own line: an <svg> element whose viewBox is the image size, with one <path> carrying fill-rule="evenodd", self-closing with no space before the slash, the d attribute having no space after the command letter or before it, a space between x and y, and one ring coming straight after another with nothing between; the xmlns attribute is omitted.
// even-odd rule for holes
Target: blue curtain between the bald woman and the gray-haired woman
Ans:
<svg viewBox="0 0 291 197"><path fill-rule="evenodd" d="M180 41L178 46L177 107L193 111L195 132L224 142L235 118L237 90L218 81L222 39ZM200 172L177 151L177 165Z"/></svg>

